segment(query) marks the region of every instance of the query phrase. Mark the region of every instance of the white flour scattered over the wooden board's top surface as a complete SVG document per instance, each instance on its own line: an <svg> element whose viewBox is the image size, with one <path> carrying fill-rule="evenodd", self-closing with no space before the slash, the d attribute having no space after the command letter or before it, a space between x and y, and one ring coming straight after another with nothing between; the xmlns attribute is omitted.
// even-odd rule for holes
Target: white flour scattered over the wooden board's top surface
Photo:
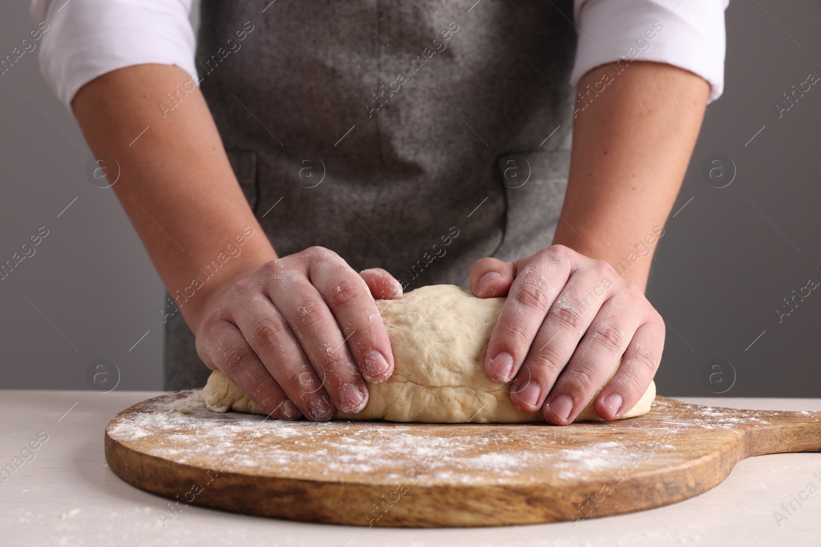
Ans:
<svg viewBox="0 0 821 547"><path fill-rule="evenodd" d="M690 431L742 431L768 423L762 418L766 411L694 405L682 412L681 405L657 399L654 409L663 420L654 425L644 420L598 422L594 426L602 439L610 440L585 444L569 427L544 423L475 424L455 430L449 425L286 422L211 413L200 392L187 390L135 405L112 420L108 435L146 454L214 471L385 485L512 485L544 480L546 473L557 482L612 476L648 453L651 457L641 465L652 468L663 464L654 454L669 458L686 452L682 435ZM815 419L814 413L805 416ZM619 442L626 431L633 434L629 445Z"/></svg>

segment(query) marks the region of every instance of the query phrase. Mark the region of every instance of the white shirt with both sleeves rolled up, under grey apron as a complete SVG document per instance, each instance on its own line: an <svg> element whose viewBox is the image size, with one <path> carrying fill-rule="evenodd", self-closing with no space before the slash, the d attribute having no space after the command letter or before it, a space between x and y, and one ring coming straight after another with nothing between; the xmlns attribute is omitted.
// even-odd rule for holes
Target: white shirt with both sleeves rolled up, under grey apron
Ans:
<svg viewBox="0 0 821 547"><path fill-rule="evenodd" d="M578 48L572 85L620 60L665 62L724 86L724 10L730 0L574 0ZM124 66L177 65L195 76L193 0L31 0L40 70L62 103L99 75Z"/></svg>

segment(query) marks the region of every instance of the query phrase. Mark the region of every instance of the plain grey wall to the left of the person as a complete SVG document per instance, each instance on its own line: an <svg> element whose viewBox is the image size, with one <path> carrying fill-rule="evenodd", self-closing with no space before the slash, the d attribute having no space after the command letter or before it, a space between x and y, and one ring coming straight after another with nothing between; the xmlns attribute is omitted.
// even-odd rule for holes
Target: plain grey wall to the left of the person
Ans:
<svg viewBox="0 0 821 547"><path fill-rule="evenodd" d="M28 2L3 2L0 57L32 29ZM105 358L117 389L160 389L163 285L112 189L86 179L91 153L38 53L0 75L0 262L48 230L0 280L0 387L88 389L86 368Z"/></svg>

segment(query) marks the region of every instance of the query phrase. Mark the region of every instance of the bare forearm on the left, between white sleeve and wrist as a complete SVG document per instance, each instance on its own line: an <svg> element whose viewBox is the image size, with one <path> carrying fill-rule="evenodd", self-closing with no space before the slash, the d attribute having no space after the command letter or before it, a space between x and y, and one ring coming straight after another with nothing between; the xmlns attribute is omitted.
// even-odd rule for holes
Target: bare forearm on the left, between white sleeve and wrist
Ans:
<svg viewBox="0 0 821 547"><path fill-rule="evenodd" d="M188 92L189 84L171 112L160 107L188 80L177 66L129 66L86 84L72 107L94 155L116 158L112 189L196 330L207 300L277 256L236 182L200 89ZM116 173L104 166L107 175Z"/></svg>

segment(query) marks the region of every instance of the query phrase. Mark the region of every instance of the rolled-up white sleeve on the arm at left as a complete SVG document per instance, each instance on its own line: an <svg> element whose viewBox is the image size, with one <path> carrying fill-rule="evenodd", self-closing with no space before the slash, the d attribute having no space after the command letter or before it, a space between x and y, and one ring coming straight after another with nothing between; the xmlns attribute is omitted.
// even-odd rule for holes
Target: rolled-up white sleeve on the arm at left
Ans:
<svg viewBox="0 0 821 547"><path fill-rule="evenodd" d="M69 111L84 84L124 66L177 65L194 76L190 7L191 0L31 0L34 23L48 25L40 71Z"/></svg>

